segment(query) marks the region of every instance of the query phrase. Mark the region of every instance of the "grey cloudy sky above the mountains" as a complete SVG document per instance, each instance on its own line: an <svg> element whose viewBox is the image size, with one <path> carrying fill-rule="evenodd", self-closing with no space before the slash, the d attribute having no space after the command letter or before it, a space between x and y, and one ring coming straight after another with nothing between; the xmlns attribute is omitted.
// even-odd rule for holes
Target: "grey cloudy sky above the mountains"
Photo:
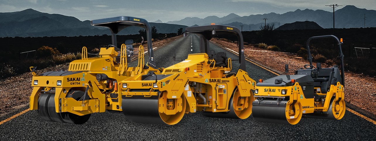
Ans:
<svg viewBox="0 0 376 141"><path fill-rule="evenodd" d="M224 17L230 13L240 16L274 12L284 14L296 9L322 9L325 5L355 5L376 9L376 0L0 0L0 12L34 10L73 16L81 21L132 16L149 22L181 20L185 17ZM343 7L338 7L340 9Z"/></svg>

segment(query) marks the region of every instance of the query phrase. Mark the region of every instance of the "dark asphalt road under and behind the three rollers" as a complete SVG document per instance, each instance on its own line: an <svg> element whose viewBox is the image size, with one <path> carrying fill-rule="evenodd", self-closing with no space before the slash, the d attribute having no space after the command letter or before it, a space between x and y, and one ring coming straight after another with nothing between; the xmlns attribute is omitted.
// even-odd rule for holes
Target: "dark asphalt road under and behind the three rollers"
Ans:
<svg viewBox="0 0 376 141"><path fill-rule="evenodd" d="M186 58L188 53L199 52L199 38L191 35L176 39L155 50L158 67L168 67ZM238 58L214 44L216 52L226 52L230 58ZM193 51L191 51L193 49ZM134 62L133 62L134 63ZM233 69L239 64L233 62ZM250 62L246 64L252 79L274 77ZM11 115L27 109L11 113ZM8 116L8 117L10 117ZM4 120L7 117L2 117ZM92 114L82 125L55 123L42 120L37 111L28 111L0 125L0 140L376 140L376 125L346 111L341 120L302 118L297 125L260 123L252 115L245 119L208 118L200 114L186 114L175 125L139 124L128 121L123 114L109 112Z"/></svg>

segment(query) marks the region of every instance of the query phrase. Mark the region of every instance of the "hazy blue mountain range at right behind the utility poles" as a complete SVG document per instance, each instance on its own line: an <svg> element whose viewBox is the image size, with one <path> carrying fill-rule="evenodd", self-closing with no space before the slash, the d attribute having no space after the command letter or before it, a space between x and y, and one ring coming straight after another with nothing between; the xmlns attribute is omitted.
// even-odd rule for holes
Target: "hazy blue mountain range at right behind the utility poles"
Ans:
<svg viewBox="0 0 376 141"><path fill-rule="evenodd" d="M366 27L376 27L376 11L357 8L353 5L344 6L341 9L335 11L335 27L336 28L350 28L350 27L363 27L364 26L364 14L367 18L365 21ZM186 26L193 26L197 24L199 26L209 25L210 23L215 24L230 24L233 22L239 22L247 25L261 25L264 24L264 20L261 18L270 18L267 20L267 23L280 23L280 25L285 23L293 23L295 21L314 21L323 28L332 28L333 27L333 12L324 11L324 10L311 10L305 9L296 11L286 12L284 14L268 13L268 14L257 14L240 17L236 14L229 14L225 17L218 18L217 16L208 16L206 18L197 18L197 17L187 17L179 21L168 21L167 23L171 24L182 24ZM239 26L239 25L238 25ZM249 27L248 27L249 29ZM258 29L253 27L253 29ZM243 27L244 30L244 27Z"/></svg>

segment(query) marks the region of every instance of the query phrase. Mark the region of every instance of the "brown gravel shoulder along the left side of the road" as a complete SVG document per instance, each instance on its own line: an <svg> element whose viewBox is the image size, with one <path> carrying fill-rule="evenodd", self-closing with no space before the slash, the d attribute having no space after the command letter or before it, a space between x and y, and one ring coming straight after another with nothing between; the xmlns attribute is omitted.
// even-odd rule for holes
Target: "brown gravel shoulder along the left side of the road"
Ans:
<svg viewBox="0 0 376 141"><path fill-rule="evenodd" d="M154 41L152 47L158 49L158 47L162 47L179 37L181 36ZM138 55L138 45L134 48L135 53L133 58L136 58ZM147 44L144 44L144 51L147 51ZM65 63L42 70L36 70L36 73L41 74L47 71L68 70L68 66L69 63ZM29 103L29 97L32 91L31 80L31 73L24 73L0 80L0 117L5 115L5 113L19 108L20 105L27 105Z"/></svg>

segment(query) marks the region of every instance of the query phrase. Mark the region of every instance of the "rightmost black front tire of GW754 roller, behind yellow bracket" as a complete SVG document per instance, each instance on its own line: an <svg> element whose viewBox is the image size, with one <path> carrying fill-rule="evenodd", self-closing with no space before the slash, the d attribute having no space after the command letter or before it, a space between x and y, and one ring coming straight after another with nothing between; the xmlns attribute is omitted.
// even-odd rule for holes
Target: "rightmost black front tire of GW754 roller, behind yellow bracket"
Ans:
<svg viewBox="0 0 376 141"><path fill-rule="evenodd" d="M79 100L79 99L81 99L83 94L85 94L85 92L83 92L83 91L74 91L72 95L68 94L66 97L72 97L75 100ZM85 99L88 100L88 99L90 99L90 97L86 94ZM80 116L80 115L72 114L70 112L61 112L60 116L61 116L62 120L66 123L83 124L83 123L86 123L86 121L89 120L91 114Z"/></svg>

